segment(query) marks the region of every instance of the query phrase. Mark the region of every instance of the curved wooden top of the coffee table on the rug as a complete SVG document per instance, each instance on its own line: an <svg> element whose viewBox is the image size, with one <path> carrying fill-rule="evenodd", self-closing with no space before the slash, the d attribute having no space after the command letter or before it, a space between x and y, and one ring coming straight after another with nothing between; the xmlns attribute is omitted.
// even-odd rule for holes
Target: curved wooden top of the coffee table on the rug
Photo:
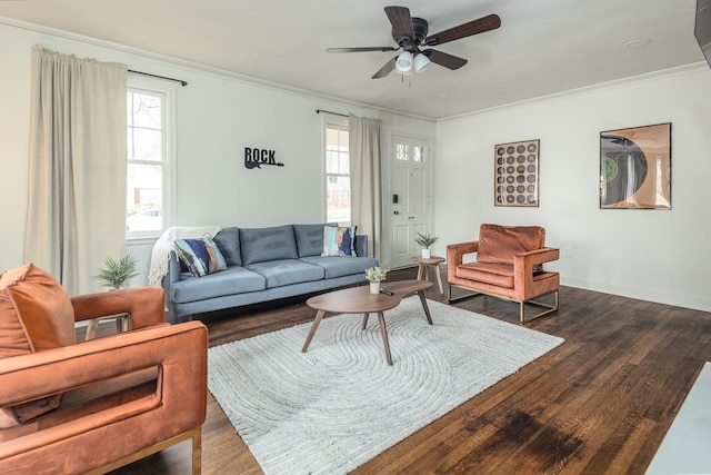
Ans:
<svg viewBox="0 0 711 475"><path fill-rule="evenodd" d="M371 294L369 286L351 287L311 297L307 305L317 310L339 314L370 314L384 311L400 305L404 297L432 287L423 280L398 280L381 283L380 287L393 295Z"/></svg>

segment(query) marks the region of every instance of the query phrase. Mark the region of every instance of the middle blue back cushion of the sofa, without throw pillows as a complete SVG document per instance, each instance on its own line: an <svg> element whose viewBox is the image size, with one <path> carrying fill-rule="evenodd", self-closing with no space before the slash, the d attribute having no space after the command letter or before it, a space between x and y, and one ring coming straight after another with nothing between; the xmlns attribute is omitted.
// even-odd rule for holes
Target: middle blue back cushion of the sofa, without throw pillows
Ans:
<svg viewBox="0 0 711 475"><path fill-rule="evenodd" d="M274 226L271 228L240 228L240 246L242 265L278 259L296 259L297 240L293 226Z"/></svg>

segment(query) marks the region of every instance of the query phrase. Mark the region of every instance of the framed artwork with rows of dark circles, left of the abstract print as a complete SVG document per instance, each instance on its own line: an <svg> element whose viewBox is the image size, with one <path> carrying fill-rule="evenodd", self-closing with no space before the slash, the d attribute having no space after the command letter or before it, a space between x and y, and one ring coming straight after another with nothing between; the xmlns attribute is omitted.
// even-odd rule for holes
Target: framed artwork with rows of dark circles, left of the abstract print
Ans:
<svg viewBox="0 0 711 475"><path fill-rule="evenodd" d="M540 140L494 147L494 206L538 206L540 149Z"/></svg>

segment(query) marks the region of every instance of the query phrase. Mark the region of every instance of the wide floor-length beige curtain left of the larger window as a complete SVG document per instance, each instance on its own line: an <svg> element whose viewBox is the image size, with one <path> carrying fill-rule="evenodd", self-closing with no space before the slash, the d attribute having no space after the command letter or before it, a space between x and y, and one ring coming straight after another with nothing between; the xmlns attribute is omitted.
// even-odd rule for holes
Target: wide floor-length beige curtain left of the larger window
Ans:
<svg viewBox="0 0 711 475"><path fill-rule="evenodd" d="M32 47L24 261L70 295L126 245L127 66Z"/></svg>

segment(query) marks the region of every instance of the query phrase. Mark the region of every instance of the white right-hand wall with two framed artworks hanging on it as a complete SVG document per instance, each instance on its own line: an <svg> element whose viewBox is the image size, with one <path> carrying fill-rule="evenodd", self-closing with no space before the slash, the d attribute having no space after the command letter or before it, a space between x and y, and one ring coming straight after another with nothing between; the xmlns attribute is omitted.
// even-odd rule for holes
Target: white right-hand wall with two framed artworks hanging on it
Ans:
<svg viewBox="0 0 711 475"><path fill-rule="evenodd" d="M672 122L672 209L599 209L600 132L661 122ZM571 249L550 266L562 284L711 310L705 65L452 118L437 138L440 243L475 239L482 222L542 225L548 245ZM529 139L541 140L540 206L494 207L494 145Z"/></svg>

